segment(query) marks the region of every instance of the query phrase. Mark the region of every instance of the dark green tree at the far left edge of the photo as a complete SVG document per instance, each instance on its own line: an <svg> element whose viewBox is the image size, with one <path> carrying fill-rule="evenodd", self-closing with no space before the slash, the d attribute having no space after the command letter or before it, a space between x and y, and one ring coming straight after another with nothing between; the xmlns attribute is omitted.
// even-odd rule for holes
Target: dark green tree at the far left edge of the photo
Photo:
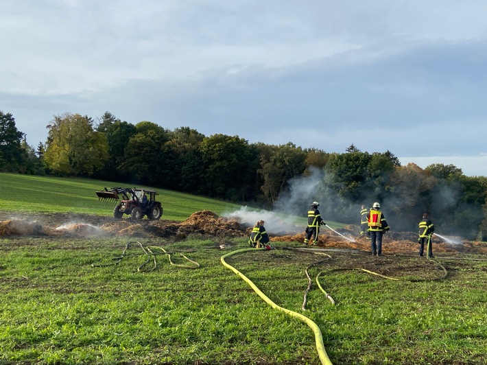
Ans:
<svg viewBox="0 0 487 365"><path fill-rule="evenodd" d="M17 172L23 164L24 133L17 130L12 113L0 110L0 171Z"/></svg>

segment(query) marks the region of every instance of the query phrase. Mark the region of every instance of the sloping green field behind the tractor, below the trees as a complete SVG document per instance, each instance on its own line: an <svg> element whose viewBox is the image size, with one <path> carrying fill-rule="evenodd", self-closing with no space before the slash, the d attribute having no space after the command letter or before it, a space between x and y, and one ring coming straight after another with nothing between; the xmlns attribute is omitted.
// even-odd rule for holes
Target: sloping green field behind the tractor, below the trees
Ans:
<svg viewBox="0 0 487 365"><path fill-rule="evenodd" d="M88 213L94 215L112 215L115 203L102 204L95 191L104 187L130 187L121 183L85 178L54 178L0 173L0 207L3 211L45 212L45 213ZM185 220L195 211L209 210L221 215L225 211L235 211L238 204L231 204L216 199L193 196L165 189L154 189L164 209L163 219Z"/></svg>

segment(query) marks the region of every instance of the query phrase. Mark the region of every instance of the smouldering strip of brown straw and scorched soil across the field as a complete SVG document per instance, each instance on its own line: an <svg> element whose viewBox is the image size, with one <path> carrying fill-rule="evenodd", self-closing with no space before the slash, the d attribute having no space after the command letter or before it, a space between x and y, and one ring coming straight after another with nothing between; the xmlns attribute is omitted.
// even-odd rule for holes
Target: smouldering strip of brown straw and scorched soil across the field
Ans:
<svg viewBox="0 0 487 365"><path fill-rule="evenodd" d="M295 227L294 227L295 228ZM215 241L248 237L251 227L235 219L219 217L212 211L199 211L187 220L141 220L133 222L126 218L117 220L89 214L72 213L16 213L0 215L0 237L141 237L146 239L184 240L190 235L213 237ZM296 230L290 230L296 232ZM346 226L336 230L337 234L322 228L318 247L354 249L368 252L370 243L366 237L359 237L357 226ZM305 233L272 233L271 242L304 241ZM343 235L343 236L341 236ZM417 233L388 232L383 237L385 255L388 253L412 253L417 251ZM444 242L434 236L434 252L471 252L487 253L487 246L481 242L467 242L455 239L455 244Z"/></svg>

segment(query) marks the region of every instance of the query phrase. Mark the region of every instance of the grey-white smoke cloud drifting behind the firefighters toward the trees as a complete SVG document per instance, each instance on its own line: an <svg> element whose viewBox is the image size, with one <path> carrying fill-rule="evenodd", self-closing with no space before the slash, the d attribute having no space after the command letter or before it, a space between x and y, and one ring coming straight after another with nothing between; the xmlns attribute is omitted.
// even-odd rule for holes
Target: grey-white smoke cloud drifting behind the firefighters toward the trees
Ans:
<svg viewBox="0 0 487 365"><path fill-rule="evenodd" d="M418 223L427 212L438 232L467 239L475 239L479 234L479 225L484 219L482 206L460 204L464 200L462 184L436 180L421 173L410 174L407 170L390 178L369 177L364 178L359 187L346 186L337 183L343 180L340 176L313 168L309 174L289 180L288 188L274 204L274 211L242 207L224 216L248 226L264 220L268 232L298 233L304 231L306 213L315 200L320 203L318 209L325 222L357 226L361 205L370 209L374 202L379 202L392 231L417 232Z"/></svg>

